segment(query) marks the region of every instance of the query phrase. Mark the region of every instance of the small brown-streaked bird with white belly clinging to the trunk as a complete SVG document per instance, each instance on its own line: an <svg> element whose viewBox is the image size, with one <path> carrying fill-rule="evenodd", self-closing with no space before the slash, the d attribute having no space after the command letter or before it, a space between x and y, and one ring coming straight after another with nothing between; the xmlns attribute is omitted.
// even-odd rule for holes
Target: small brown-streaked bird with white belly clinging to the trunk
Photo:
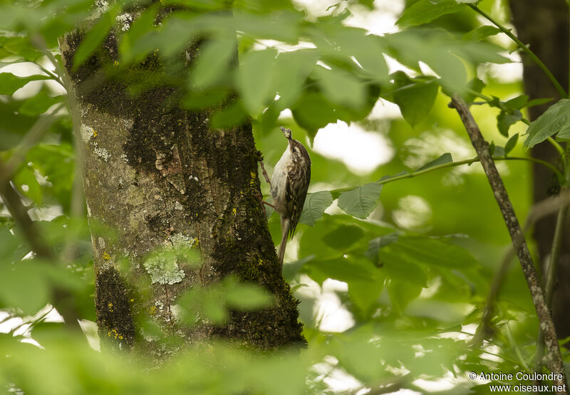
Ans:
<svg viewBox="0 0 570 395"><path fill-rule="evenodd" d="M287 137L289 144L275 165L270 185L274 209L281 216L279 263L283 265L287 239L295 233L309 189L311 157L303 144L291 138L290 129L281 127L281 132Z"/></svg>

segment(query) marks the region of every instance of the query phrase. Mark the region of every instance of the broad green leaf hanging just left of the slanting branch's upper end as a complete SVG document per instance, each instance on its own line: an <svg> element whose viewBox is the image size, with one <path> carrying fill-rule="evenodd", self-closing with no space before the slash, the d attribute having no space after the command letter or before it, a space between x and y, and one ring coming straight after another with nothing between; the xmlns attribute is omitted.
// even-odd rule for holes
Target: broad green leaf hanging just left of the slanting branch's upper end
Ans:
<svg viewBox="0 0 570 395"><path fill-rule="evenodd" d="M415 80L394 92L394 102L400 107L404 120L415 126L430 113L439 86L433 81Z"/></svg>

